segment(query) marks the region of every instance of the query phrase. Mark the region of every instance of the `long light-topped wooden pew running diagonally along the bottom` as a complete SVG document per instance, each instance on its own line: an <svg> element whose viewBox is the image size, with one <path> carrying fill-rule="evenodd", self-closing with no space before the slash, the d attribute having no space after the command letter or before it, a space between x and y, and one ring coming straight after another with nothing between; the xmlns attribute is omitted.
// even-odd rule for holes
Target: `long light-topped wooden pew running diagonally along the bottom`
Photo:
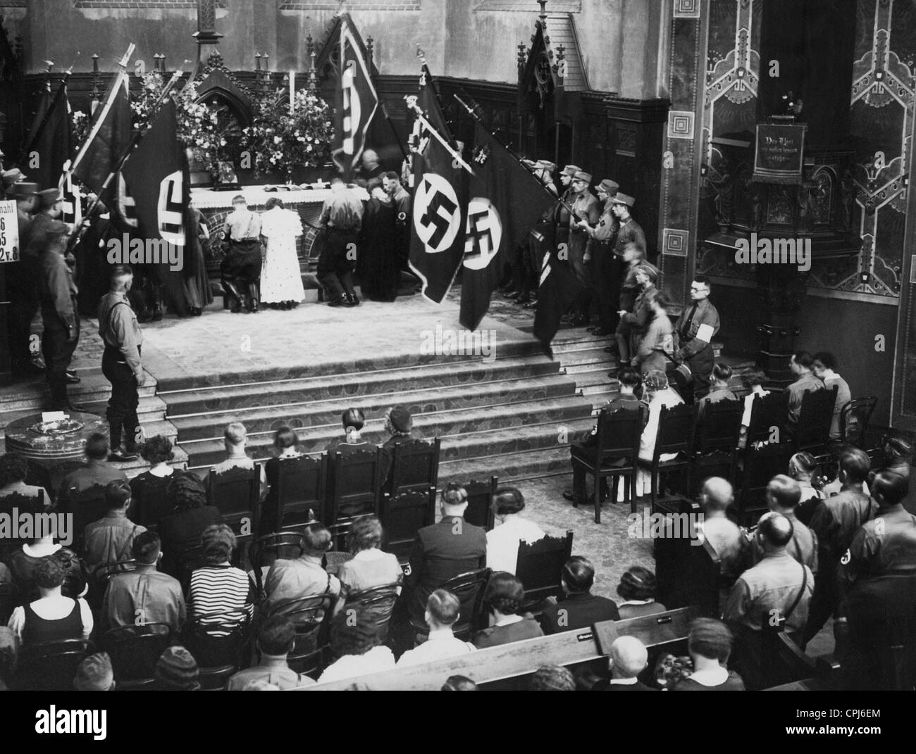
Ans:
<svg viewBox="0 0 916 754"><path fill-rule="evenodd" d="M637 637L651 653L652 648L686 640L691 621L699 615L699 609L691 607L628 620L605 620L596 623L592 629L515 641L459 657L295 690L343 691L359 684L360 687L378 691L438 691L451 675L465 675L478 686L485 686L523 678L541 665L574 665L600 660L607 656L618 636Z"/></svg>

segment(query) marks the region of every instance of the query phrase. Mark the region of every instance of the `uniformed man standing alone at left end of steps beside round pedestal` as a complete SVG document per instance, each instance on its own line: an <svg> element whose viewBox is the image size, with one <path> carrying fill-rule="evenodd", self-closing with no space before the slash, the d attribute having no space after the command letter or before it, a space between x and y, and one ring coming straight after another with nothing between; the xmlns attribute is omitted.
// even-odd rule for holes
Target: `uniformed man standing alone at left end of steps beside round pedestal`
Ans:
<svg viewBox="0 0 916 754"><path fill-rule="evenodd" d="M117 460L136 458L140 440L136 417L136 406L140 401L137 388L146 382L140 363L143 334L127 298L127 291L133 283L133 270L126 264L117 265L112 273L111 288L99 301L99 335L105 344L102 373L112 383L112 396L105 415L112 458Z"/></svg>

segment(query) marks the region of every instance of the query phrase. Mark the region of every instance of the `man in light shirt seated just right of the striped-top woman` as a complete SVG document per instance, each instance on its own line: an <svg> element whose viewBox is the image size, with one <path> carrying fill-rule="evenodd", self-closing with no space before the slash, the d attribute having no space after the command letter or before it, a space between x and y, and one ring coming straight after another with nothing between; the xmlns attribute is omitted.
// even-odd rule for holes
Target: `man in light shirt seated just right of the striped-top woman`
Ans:
<svg viewBox="0 0 916 754"><path fill-rule="evenodd" d="M331 549L331 532L323 523L310 523L302 533L302 555L294 560L280 558L270 566L264 591L265 615L282 615L283 609L293 600L329 594L333 598L341 592L341 583L322 568L322 557ZM319 611L312 622L324 618Z"/></svg>

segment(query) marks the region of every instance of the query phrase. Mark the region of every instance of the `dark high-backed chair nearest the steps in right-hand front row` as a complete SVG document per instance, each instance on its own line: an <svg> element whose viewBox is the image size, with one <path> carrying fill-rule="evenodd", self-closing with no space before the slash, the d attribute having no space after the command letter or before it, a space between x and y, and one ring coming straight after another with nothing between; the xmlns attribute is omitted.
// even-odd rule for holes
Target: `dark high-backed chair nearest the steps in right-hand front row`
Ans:
<svg viewBox="0 0 916 754"><path fill-rule="evenodd" d="M594 522L601 523L601 490L605 479L612 479L611 497L617 500L617 484L624 483L625 500L630 511L636 512L636 471L639 455L639 438L646 425L647 408L639 404L636 410L618 408L602 411L598 415L597 444L584 447L582 443L570 446L573 461L573 506L584 500L585 478L591 477L594 496ZM622 461L619 466L612 462Z"/></svg>

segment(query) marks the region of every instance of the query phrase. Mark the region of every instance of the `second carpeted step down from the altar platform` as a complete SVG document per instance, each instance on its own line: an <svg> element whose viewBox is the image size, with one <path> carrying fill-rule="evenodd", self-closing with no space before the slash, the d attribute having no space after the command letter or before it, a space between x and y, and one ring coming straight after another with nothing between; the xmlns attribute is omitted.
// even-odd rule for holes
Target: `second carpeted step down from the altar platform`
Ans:
<svg viewBox="0 0 916 754"><path fill-rule="evenodd" d="M180 441L218 439L222 441L225 425L233 421L245 424L248 435L271 433L281 425L312 431L327 427L340 431L340 415L346 408L362 409L367 417L382 421L387 408L394 404L408 407L416 415L442 415L480 407L529 404L533 401L561 399L575 394L575 382L562 374L544 375L533 380L506 380L472 386L427 388L403 393L381 393L318 401L236 408L207 415L171 416ZM260 396L258 396L260 397Z"/></svg>

